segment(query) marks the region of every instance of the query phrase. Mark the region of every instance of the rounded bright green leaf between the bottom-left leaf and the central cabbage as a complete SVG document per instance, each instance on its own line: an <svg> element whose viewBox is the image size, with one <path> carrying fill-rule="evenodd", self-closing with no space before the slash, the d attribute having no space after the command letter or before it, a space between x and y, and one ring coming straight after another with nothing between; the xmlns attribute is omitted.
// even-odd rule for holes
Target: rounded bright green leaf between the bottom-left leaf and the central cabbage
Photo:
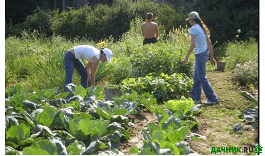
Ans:
<svg viewBox="0 0 265 156"><path fill-rule="evenodd" d="M49 127L55 118L56 112L53 106L44 107L43 112L36 117L37 123Z"/></svg>

